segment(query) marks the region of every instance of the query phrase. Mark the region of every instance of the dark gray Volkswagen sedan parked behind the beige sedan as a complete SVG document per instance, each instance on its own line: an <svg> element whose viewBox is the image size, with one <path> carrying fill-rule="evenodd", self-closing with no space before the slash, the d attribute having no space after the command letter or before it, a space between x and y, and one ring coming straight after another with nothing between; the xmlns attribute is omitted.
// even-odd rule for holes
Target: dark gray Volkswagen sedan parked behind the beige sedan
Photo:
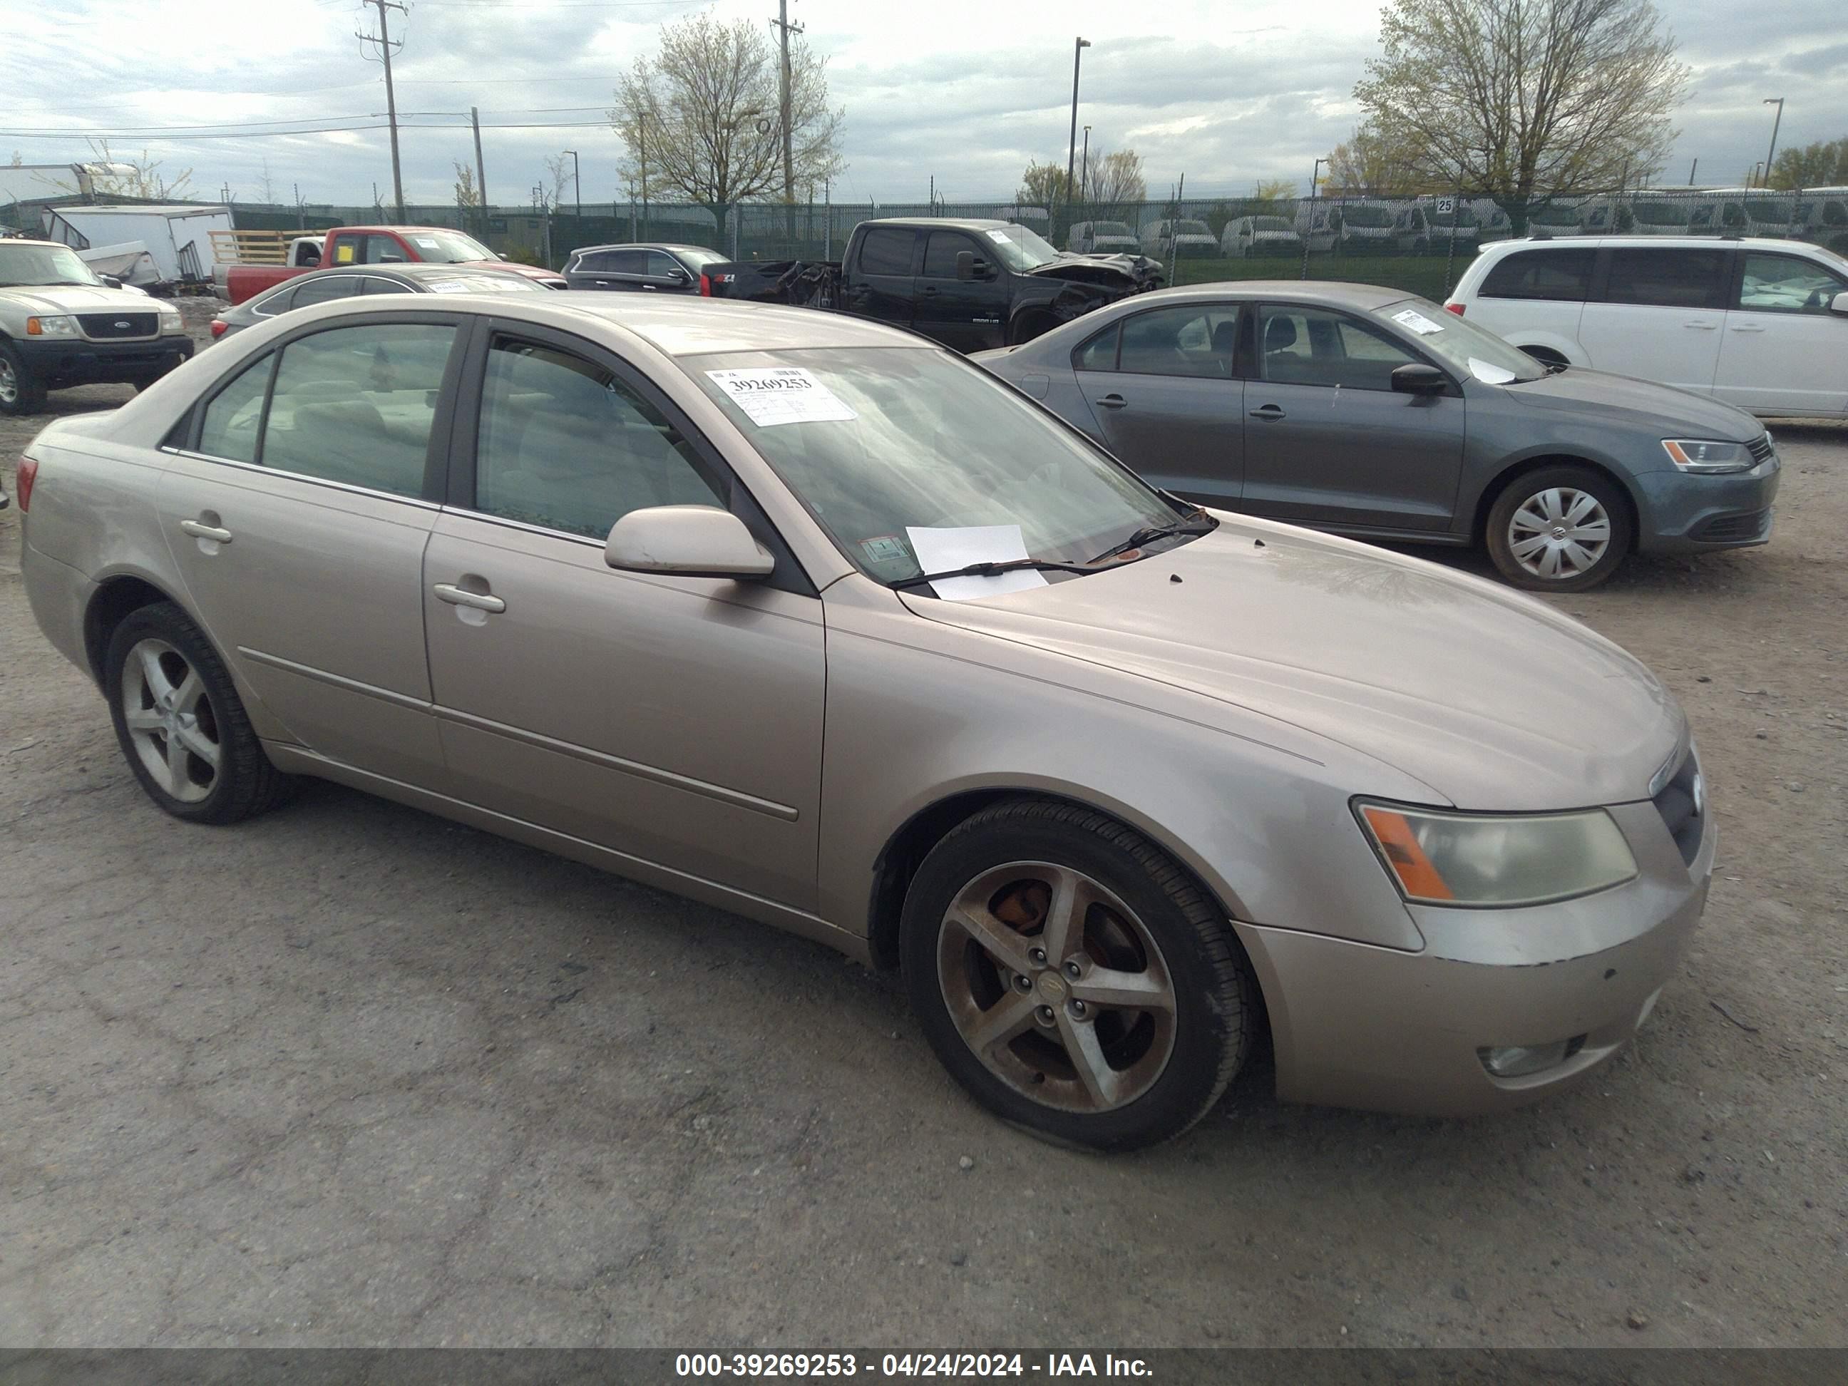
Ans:
<svg viewBox="0 0 1848 1386"><path fill-rule="evenodd" d="M1770 538L1778 455L1748 414L1543 366L1397 288L1168 288L974 359L1190 501L1480 543L1536 591Z"/></svg>

